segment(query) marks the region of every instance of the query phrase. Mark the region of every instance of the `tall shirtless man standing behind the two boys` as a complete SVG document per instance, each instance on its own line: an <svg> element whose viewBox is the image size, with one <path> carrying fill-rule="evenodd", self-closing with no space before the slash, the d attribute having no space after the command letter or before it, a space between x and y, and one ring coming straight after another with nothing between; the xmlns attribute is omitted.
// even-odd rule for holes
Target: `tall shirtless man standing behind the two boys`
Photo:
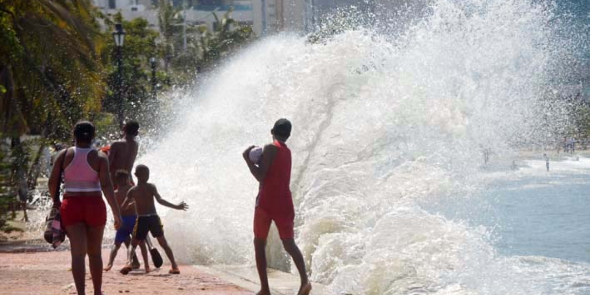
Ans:
<svg viewBox="0 0 590 295"><path fill-rule="evenodd" d="M129 121L123 126L123 139L113 142L110 146L109 163L113 183L117 171L126 171L129 174L129 180L132 181L130 172L139 149L139 145L135 141L137 134L139 134L139 123L133 120Z"/></svg>

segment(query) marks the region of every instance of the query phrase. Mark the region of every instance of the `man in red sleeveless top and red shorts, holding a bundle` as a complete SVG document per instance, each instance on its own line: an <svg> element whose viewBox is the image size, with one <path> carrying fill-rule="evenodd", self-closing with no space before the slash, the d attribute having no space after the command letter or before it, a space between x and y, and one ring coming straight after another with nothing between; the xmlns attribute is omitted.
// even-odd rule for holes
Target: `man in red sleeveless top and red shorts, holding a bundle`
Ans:
<svg viewBox="0 0 590 295"><path fill-rule="evenodd" d="M281 241L283 241L283 247L291 255L299 271L301 287L297 294L307 295L312 290L312 284L307 279L303 255L301 255L301 251L294 240L293 221L295 210L289 189L291 181L291 150L285 142L291 135L291 122L287 119L277 120L270 133L273 135L273 143L264 146L259 166L250 159L250 150L254 146L250 146L242 154L250 172L260 182L254 209L254 251L261 287L257 295L270 295L265 248L268 230L270 230L272 221L277 226L278 234Z"/></svg>

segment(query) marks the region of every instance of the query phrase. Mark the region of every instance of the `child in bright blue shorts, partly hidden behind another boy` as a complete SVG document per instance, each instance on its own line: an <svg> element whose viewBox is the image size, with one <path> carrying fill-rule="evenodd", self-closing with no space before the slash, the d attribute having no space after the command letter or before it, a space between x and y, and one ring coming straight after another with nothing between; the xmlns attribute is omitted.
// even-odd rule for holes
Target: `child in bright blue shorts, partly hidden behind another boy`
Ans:
<svg viewBox="0 0 590 295"><path fill-rule="evenodd" d="M117 204L123 204L126 196L127 191L131 188L129 184L129 173L124 169L119 169L115 173L115 183L118 186L117 190L114 191L115 198L117 199ZM114 247L111 250L109 263L104 268L104 271L109 271L113 268L114 258L117 257L117 252L119 252L119 248L121 244L124 243L127 248L129 248L129 242L131 239L129 238L130 235L133 234L133 227L135 227L135 221L137 219L137 215L135 213L135 208L132 206L133 204L127 207L121 207L121 217L123 218L123 224L117 230L117 233L114 237ZM146 249L145 243L139 245L140 250L142 251L143 256L143 263L145 266L146 273L149 273L150 267L148 263L148 250ZM133 252L133 262L127 264L132 264L133 269L139 268L139 261L137 260L137 256L135 255L135 251Z"/></svg>

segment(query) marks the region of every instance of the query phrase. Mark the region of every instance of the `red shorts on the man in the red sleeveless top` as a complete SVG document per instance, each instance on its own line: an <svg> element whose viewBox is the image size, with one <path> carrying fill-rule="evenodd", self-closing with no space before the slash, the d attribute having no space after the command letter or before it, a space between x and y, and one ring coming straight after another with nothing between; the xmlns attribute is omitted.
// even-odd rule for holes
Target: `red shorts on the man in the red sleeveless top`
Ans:
<svg viewBox="0 0 590 295"><path fill-rule="evenodd" d="M256 207L256 209L254 209L254 237L266 239L268 237L268 231L270 230L270 224L274 221L281 240L292 239L295 237L293 231L294 217L294 214L271 215L268 214L266 210Z"/></svg>

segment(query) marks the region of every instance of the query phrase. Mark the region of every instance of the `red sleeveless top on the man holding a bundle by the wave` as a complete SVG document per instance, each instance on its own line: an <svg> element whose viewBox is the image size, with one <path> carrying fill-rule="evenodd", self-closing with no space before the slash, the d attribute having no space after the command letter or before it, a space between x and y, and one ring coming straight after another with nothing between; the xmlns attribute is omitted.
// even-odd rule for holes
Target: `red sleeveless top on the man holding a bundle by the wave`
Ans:
<svg viewBox="0 0 590 295"><path fill-rule="evenodd" d="M270 165L258 192L258 206L268 213L294 214L293 199L289 185L291 182L291 150L282 142L275 140L277 155Z"/></svg>

